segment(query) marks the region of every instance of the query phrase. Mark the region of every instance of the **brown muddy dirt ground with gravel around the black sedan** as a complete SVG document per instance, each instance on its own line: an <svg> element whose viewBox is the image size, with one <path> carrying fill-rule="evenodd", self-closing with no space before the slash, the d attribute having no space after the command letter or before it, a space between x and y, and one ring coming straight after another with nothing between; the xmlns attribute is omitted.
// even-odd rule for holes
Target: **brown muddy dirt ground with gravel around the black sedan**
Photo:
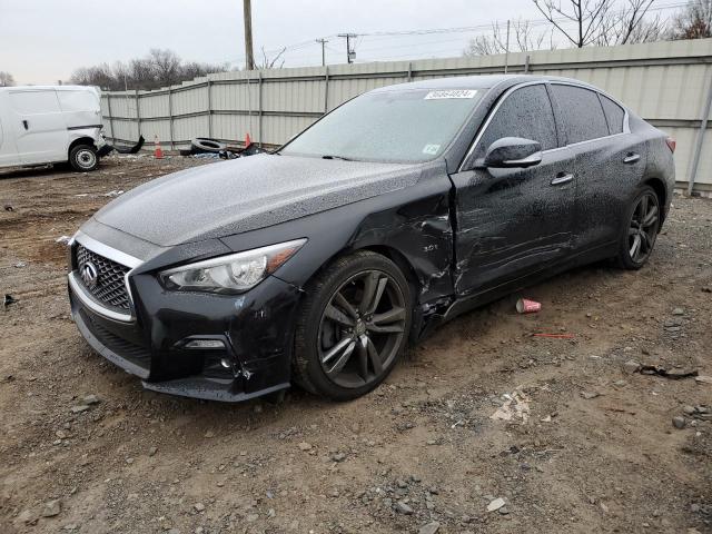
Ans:
<svg viewBox="0 0 712 534"><path fill-rule="evenodd" d="M459 317L365 398L227 405L92 353L56 243L110 191L205 164L0 172L0 533L712 532L712 384L623 365L712 375L712 201L675 197L642 270Z"/></svg>

